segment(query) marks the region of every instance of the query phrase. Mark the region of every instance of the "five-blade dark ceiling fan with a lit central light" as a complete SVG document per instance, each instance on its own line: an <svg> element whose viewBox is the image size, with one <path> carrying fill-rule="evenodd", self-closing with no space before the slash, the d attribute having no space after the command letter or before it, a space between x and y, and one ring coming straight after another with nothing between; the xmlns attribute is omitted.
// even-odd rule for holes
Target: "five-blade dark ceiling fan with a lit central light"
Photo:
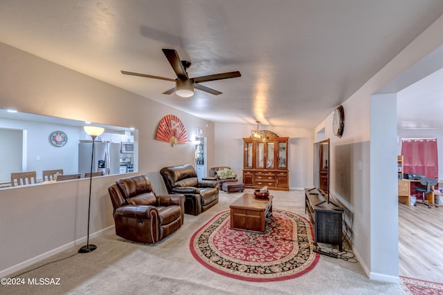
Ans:
<svg viewBox="0 0 443 295"><path fill-rule="evenodd" d="M240 72L237 70L236 72L190 78L188 77L188 73L186 72L186 69L190 68L191 66L190 61L184 61L184 60L181 61L179 55L177 54L177 51L174 49L162 49L162 50L166 58L168 59L169 63L171 64L172 69L174 69L174 72L177 75L177 79L127 72L126 70L122 70L121 71L122 74L175 82L175 85L169 88L167 91L163 92L163 94L171 94L174 93L175 91L175 93L177 93L177 95L181 97L191 97L192 95L194 95L194 88L197 88L201 91L205 91L207 93L211 93L213 95L219 95L221 94L220 91L216 91L213 88L203 86L199 83L242 76Z"/></svg>

